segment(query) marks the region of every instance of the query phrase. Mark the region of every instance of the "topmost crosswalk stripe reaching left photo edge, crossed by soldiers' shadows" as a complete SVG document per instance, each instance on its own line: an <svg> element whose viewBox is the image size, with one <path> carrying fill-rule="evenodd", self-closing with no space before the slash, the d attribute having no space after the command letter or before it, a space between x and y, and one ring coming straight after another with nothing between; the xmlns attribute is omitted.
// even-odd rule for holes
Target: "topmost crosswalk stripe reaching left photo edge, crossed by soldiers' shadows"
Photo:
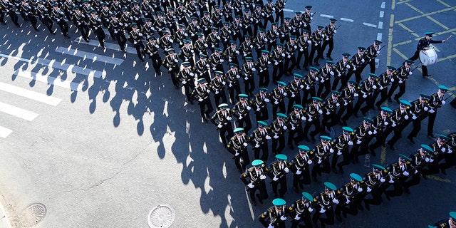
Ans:
<svg viewBox="0 0 456 228"><path fill-rule="evenodd" d="M30 64L36 63L36 64L40 64L43 66L47 66L49 68L57 68L57 69L61 69L63 71L76 72L76 73L79 73L79 74L82 74L85 76L90 76L90 77L95 77L95 78L100 78L101 76L106 74L105 72L102 72L102 71L95 71L95 70L91 70L88 68L82 68L81 66L75 66L73 64L68 64L68 63L61 63L61 62L57 62L55 60L49 60L46 58L36 58L36 59L19 58L16 56L9 56L9 55L5 55L2 53L0 53L0 57L12 58L12 59L27 62Z"/></svg>

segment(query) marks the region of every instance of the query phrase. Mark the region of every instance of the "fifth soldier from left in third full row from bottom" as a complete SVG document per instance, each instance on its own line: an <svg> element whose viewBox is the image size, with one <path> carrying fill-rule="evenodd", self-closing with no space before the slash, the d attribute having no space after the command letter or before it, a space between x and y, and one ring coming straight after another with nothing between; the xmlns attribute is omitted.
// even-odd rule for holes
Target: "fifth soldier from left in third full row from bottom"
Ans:
<svg viewBox="0 0 456 228"><path fill-rule="evenodd" d="M323 100L321 98L312 97L313 102L307 105L307 117L306 125L304 125L304 140L309 141L307 133L309 132L312 125L314 130L311 131L311 140L315 142L315 135L321 132L320 115L323 114Z"/></svg>

